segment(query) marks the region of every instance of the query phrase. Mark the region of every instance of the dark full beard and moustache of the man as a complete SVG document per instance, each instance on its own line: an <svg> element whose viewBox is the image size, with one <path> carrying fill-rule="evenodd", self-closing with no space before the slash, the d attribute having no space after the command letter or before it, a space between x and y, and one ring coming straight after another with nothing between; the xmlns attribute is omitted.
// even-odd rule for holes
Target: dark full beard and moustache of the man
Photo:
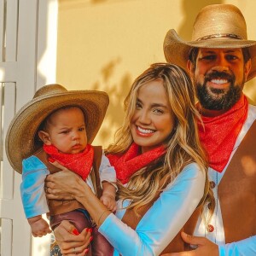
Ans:
<svg viewBox="0 0 256 256"><path fill-rule="evenodd" d="M207 89L207 82L212 79L227 79L230 83L229 90ZM234 75L214 72L206 76L204 84L195 83L196 95L201 106L209 110L228 110L232 108L240 99L245 82L245 79L243 79L242 84L235 85L235 80ZM211 90L212 93L209 93L208 90Z"/></svg>

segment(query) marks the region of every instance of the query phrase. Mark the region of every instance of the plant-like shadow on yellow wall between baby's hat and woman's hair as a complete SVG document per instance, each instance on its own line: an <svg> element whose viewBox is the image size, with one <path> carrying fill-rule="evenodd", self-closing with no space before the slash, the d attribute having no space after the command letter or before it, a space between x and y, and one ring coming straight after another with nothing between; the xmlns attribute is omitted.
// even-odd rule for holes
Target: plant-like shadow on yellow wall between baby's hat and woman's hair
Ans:
<svg viewBox="0 0 256 256"><path fill-rule="evenodd" d="M130 73L121 75L118 84L111 82L111 78L116 72L120 61L120 58L109 61L108 64L102 67L100 81L96 81L92 85L92 90L102 90L103 88L109 96L108 111L97 136L102 142L113 143L113 135L124 119L124 101L131 88ZM108 147L108 144L104 146Z"/></svg>

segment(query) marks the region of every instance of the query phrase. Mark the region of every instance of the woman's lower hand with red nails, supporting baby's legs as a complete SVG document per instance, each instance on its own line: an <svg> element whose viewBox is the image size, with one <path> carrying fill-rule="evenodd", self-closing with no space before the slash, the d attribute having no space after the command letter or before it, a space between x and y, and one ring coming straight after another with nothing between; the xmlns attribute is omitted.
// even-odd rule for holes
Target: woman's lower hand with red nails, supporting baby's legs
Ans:
<svg viewBox="0 0 256 256"><path fill-rule="evenodd" d="M92 240L91 230L84 229L80 234L79 231L67 220L55 228L55 241L61 248L63 256L67 255L86 255L87 247Z"/></svg>

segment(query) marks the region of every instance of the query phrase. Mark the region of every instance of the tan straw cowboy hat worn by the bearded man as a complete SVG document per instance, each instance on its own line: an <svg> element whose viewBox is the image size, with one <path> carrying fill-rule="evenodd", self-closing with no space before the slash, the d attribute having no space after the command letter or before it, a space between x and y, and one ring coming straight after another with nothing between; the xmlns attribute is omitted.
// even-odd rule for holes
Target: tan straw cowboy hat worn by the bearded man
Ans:
<svg viewBox="0 0 256 256"><path fill-rule="evenodd" d="M247 80L256 75L256 41L247 40L247 25L240 9L232 4L212 4L201 9L195 18L192 40L179 38L171 29L166 34L164 53L167 62L186 69L192 48L248 48L252 69Z"/></svg>

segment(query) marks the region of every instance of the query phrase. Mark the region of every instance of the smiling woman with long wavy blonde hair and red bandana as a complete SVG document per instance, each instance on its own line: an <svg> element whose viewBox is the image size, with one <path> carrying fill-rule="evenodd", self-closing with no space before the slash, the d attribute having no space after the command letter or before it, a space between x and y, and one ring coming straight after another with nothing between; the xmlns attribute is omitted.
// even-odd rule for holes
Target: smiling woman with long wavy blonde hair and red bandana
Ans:
<svg viewBox="0 0 256 256"><path fill-rule="evenodd" d="M198 212L195 210L203 201L206 204L206 197L214 207L198 120L194 88L183 69L164 63L152 65L132 84L125 99L124 124L108 148L119 179L116 215L79 177L56 162L63 172L47 178L49 198L69 195L82 203L114 247L113 255L177 251L180 248L171 241L193 212ZM67 230L72 230L71 224L61 224L55 230L62 253L84 255L86 245L79 242L82 234L73 238Z"/></svg>

